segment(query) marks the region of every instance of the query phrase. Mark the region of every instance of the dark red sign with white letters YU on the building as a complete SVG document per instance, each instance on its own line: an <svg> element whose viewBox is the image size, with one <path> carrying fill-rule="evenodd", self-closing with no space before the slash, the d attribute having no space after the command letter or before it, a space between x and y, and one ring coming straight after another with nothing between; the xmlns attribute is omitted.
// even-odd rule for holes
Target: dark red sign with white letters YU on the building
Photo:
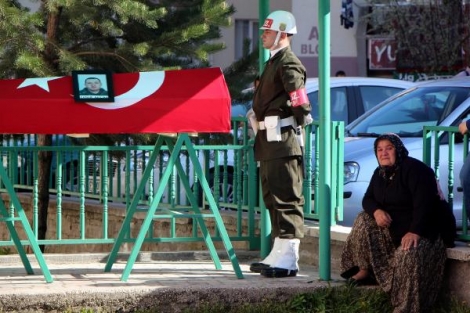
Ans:
<svg viewBox="0 0 470 313"><path fill-rule="evenodd" d="M396 51L395 39L369 39L369 69L394 70L396 68Z"/></svg>

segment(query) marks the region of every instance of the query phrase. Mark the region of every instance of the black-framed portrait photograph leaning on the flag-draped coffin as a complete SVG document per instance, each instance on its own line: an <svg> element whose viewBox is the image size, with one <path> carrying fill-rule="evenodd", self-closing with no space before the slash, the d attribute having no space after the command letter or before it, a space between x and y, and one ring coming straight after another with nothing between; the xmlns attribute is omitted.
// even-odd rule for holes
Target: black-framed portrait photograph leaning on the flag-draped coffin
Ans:
<svg viewBox="0 0 470 313"><path fill-rule="evenodd" d="M114 102L111 72L72 71L73 96L77 102Z"/></svg>

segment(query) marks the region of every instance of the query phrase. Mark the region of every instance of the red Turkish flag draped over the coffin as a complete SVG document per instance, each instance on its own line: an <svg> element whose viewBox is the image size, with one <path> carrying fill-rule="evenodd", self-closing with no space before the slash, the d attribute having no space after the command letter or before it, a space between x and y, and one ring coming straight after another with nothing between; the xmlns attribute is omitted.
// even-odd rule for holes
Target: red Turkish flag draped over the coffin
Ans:
<svg viewBox="0 0 470 313"><path fill-rule="evenodd" d="M0 80L0 133L230 132L220 68L113 74L114 102L76 102L71 76Z"/></svg>

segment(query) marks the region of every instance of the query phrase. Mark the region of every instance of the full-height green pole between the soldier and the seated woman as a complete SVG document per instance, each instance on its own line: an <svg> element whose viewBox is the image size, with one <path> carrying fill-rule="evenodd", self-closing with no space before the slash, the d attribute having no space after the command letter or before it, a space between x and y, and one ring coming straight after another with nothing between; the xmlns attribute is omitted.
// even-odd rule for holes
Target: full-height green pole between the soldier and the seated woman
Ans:
<svg viewBox="0 0 470 313"><path fill-rule="evenodd" d="M318 2L318 76L320 103L320 172L319 205L319 275L321 280L331 279L331 110L330 110L330 0Z"/></svg>

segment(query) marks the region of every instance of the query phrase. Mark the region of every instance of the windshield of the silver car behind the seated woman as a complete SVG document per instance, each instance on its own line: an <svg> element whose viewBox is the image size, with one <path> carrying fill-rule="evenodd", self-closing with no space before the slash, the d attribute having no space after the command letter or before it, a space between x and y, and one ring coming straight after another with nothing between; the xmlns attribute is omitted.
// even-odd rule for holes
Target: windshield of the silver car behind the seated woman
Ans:
<svg viewBox="0 0 470 313"><path fill-rule="evenodd" d="M356 136L385 132L402 137L422 136L424 126L438 125L467 97L467 88L417 88L371 111L349 132Z"/></svg>

